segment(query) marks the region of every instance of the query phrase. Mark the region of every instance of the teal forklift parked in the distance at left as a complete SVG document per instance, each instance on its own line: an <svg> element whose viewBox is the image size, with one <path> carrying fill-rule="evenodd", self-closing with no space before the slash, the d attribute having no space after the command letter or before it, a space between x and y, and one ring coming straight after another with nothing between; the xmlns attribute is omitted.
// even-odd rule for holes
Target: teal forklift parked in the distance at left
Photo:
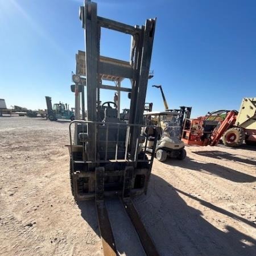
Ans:
<svg viewBox="0 0 256 256"><path fill-rule="evenodd" d="M46 96L47 117L50 121L57 121L57 119L75 120L75 115L72 110L69 110L68 104L55 103L52 108L52 98Z"/></svg>

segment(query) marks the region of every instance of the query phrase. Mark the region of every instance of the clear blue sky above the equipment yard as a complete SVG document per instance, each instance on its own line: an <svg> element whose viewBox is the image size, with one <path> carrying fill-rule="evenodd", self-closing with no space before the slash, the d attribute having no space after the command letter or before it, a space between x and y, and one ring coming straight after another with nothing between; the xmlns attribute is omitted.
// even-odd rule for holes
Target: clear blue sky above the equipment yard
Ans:
<svg viewBox="0 0 256 256"><path fill-rule="evenodd" d="M256 97L255 0L99 0L98 15L144 24L157 17L147 101L162 110L162 84L170 108L192 115L238 109ZM0 0L0 98L11 105L46 108L44 96L68 102L75 53L84 50L79 0ZM104 40L104 41L103 41ZM127 60L127 35L102 31L101 54ZM102 101L113 100L104 97ZM123 97L124 98L124 97ZM123 101L122 108L128 107Z"/></svg>

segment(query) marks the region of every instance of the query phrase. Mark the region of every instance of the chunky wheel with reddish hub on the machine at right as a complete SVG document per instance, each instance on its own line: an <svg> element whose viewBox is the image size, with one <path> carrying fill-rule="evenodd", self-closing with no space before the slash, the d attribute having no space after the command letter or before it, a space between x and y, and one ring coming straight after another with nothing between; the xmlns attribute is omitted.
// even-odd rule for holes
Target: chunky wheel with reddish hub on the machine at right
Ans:
<svg viewBox="0 0 256 256"><path fill-rule="evenodd" d="M241 146L245 140L245 132L242 128L232 127L225 131L222 136L222 141L227 147L238 147Z"/></svg>

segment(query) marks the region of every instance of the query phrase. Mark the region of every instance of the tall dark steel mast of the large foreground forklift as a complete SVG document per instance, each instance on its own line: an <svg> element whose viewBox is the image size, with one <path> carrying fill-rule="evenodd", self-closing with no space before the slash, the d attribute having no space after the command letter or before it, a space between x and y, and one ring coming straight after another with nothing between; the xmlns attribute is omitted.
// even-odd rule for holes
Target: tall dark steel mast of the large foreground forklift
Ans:
<svg viewBox="0 0 256 256"><path fill-rule="evenodd" d="M79 51L76 56L76 75L86 76L86 79L80 78L79 82L73 81L75 82L76 88L79 88L82 80L86 81L86 120L92 122L102 121L100 114L100 90L110 89L117 90L118 92L131 93L129 123L143 124L143 112L156 19L147 19L145 26L133 27L97 16L97 4L90 1L85 1L85 6L81 7L80 19L82 21L82 27L85 29L86 51ZM100 56L101 27L131 35L132 42L129 62ZM121 87L123 79L131 80L131 89ZM117 86L104 85L102 84L104 80L114 81ZM80 97L78 89L77 92L75 90L77 96L76 110L78 112L80 105L82 105L82 109L85 109L85 99L84 93L81 92ZM80 104L80 98L82 104ZM120 98L118 98L118 101L120 101ZM79 119L78 117L76 118ZM90 125L88 125L88 136L92 138L95 136L95 130ZM133 127L131 129L129 151L135 151L138 136L138 127ZM94 142L90 143L90 147L94 151Z"/></svg>

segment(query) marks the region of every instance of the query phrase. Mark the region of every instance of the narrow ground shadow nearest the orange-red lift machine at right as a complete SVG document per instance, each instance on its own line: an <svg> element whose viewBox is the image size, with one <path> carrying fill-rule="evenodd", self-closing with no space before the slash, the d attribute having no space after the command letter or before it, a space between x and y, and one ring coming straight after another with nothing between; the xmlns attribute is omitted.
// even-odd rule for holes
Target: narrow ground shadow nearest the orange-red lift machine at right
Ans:
<svg viewBox="0 0 256 256"><path fill-rule="evenodd" d="M213 150L213 151L192 151L192 153L197 154L197 155L203 155L203 156L208 156L209 158L215 158L215 159L226 159L226 160L232 160L234 162L241 162L241 163L246 163L246 164L252 164L253 166L256 166L256 161L253 159L244 159L244 158L239 158L236 155L227 153L227 152L222 152L218 150Z"/></svg>

